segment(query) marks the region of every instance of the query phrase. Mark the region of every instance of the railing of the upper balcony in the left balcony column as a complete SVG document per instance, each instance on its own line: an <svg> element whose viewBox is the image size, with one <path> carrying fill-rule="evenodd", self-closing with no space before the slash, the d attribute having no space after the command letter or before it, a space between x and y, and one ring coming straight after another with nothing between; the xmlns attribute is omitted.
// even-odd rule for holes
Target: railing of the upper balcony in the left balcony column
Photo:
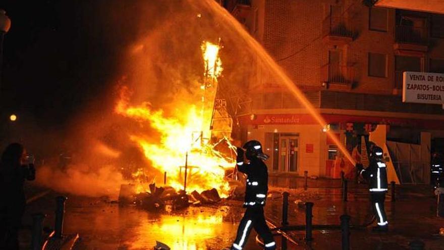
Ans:
<svg viewBox="0 0 444 250"><path fill-rule="evenodd" d="M355 36L355 29L349 19L328 16L322 23L322 34L324 36L329 35L353 38Z"/></svg>

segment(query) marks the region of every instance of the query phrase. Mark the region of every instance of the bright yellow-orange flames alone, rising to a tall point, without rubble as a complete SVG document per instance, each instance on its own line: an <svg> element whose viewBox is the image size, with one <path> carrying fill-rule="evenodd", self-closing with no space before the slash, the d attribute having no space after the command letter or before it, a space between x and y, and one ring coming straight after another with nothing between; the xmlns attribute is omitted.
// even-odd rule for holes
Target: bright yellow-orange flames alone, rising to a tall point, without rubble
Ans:
<svg viewBox="0 0 444 250"><path fill-rule="evenodd" d="M222 71L218 58L219 45L203 42L202 57L205 65L205 80L201 84L201 99L181 105L180 110L166 116L161 109L153 110L148 103L137 106L129 104L128 89L124 88L115 108L116 113L149 124L160 134L160 141L149 136L130 135L130 139L142 149L152 167L160 173L167 173L167 185L176 190L184 189L184 172L187 165L187 192L216 188L219 194L227 196L229 185L225 170L232 168L234 159L225 157L211 144L211 119L217 88L217 77ZM182 101L182 100L181 100ZM228 138L219 138L226 140ZM187 164L186 164L187 158ZM133 174L139 178L143 170ZM147 186L136 187L137 191Z"/></svg>

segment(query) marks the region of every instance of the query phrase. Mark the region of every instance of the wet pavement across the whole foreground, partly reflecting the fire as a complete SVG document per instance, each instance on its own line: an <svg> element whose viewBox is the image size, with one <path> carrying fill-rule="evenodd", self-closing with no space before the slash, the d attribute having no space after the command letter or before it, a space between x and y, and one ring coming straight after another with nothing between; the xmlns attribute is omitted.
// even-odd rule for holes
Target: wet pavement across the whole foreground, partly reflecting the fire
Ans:
<svg viewBox="0 0 444 250"><path fill-rule="evenodd" d="M282 195L285 189L271 188L272 196L267 200L266 217L279 225L282 214ZM291 225L305 224L303 202L311 201L314 225L339 225L339 217L351 216L351 249L409 249L408 243L421 239L425 249L442 249L444 237L439 228L444 219L436 217L436 197L425 186L403 186L399 188L397 201L386 198L385 207L390 225L386 234L373 233L364 227L371 220L368 192L366 188L349 190L348 202L342 201L340 188L291 189L289 222ZM56 193L49 193L31 203L24 218L26 232L31 225L30 214L44 212L48 216L45 225L53 228ZM299 206L295 201L302 202ZM223 201L217 206L189 207L181 211L151 213L133 206L121 207L106 198L89 198L68 195L66 203L65 234L79 233L77 249L152 249L155 240L168 244L174 250L222 249L230 246L235 238L243 209L240 201ZM23 233L23 246L29 244L29 233ZM298 242L287 242L287 249L341 249L340 230L315 230L313 241L306 245L304 231L291 231ZM255 233L250 235L244 249L260 249L255 242ZM276 236L278 248L281 236ZM26 242L28 241L28 242Z"/></svg>

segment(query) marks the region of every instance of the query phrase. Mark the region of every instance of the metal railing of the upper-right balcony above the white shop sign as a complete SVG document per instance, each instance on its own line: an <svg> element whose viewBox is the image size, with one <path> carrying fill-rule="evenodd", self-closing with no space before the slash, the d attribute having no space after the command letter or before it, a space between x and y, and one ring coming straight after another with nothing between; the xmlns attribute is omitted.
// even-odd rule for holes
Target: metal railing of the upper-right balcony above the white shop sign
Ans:
<svg viewBox="0 0 444 250"><path fill-rule="evenodd" d="M426 45L428 43L427 29L425 27L397 25L395 28L395 40L400 43Z"/></svg>

